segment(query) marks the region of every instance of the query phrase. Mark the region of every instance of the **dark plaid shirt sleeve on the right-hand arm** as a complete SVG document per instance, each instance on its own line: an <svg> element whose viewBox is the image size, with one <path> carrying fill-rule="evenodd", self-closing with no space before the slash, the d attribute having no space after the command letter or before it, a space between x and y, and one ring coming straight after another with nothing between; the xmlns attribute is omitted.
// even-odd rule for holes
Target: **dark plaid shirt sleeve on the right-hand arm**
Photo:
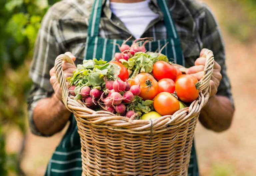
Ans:
<svg viewBox="0 0 256 176"><path fill-rule="evenodd" d="M212 50L215 61L221 66L222 79L218 87L217 95L228 97L233 104L234 102L231 93L231 85L226 72L226 57L220 28L212 12L207 6L204 9L204 13L205 16L203 19L201 19L201 23L199 26L199 33L201 35L201 48L207 48Z"/></svg>

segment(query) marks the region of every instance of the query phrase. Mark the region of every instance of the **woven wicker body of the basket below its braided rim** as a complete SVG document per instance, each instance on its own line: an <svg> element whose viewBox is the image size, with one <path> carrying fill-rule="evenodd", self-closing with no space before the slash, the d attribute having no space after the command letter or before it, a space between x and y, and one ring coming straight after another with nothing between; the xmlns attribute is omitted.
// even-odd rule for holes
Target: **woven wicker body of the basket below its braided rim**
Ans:
<svg viewBox="0 0 256 176"><path fill-rule="evenodd" d="M155 134L96 128L76 117L82 176L187 176L198 116Z"/></svg>

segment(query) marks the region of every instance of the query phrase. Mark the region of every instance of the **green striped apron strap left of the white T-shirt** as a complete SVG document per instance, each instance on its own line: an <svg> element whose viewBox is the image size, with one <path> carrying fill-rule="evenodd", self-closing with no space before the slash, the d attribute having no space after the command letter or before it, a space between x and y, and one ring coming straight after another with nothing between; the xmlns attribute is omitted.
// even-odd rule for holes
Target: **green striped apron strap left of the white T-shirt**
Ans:
<svg viewBox="0 0 256 176"><path fill-rule="evenodd" d="M88 26L88 36L98 36L99 35L99 25L101 19L101 9L102 0L95 0L93 3L92 13L90 16L89 26Z"/></svg>

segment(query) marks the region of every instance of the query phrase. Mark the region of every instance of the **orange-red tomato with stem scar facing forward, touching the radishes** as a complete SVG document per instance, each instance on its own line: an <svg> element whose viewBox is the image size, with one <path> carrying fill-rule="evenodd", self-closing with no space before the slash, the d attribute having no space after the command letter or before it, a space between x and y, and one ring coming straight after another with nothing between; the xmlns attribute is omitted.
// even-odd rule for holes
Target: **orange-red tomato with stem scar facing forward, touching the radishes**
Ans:
<svg viewBox="0 0 256 176"><path fill-rule="evenodd" d="M148 73L140 73L135 78L135 83L140 85L140 94L144 100L152 100L158 93L158 83L155 78Z"/></svg>

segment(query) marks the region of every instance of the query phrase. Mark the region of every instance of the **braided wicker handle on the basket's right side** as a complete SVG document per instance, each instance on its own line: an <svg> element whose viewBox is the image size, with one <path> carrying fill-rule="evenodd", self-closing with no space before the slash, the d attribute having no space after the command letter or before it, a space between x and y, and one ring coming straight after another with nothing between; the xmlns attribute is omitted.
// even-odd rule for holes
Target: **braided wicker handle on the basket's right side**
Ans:
<svg viewBox="0 0 256 176"><path fill-rule="evenodd" d="M204 65L204 76L200 80L201 84L199 86L199 90L205 95L207 92L211 93L210 80L213 73L214 66L214 56L213 52L209 49L203 49L201 52L202 56L205 57L205 65Z"/></svg>

